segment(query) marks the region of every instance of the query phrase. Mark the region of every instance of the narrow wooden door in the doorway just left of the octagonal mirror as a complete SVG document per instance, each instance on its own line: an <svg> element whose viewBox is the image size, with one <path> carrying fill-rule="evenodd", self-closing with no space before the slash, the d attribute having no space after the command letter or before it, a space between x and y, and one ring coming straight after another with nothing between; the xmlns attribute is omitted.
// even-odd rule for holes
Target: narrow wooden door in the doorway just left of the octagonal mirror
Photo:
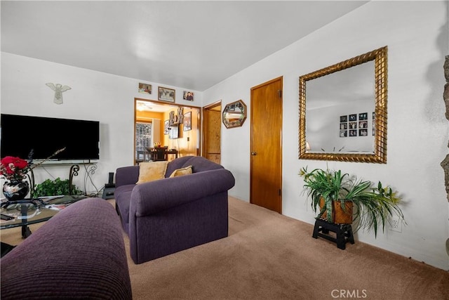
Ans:
<svg viewBox="0 0 449 300"><path fill-rule="evenodd" d="M221 101L203 108L203 157L221 162Z"/></svg>

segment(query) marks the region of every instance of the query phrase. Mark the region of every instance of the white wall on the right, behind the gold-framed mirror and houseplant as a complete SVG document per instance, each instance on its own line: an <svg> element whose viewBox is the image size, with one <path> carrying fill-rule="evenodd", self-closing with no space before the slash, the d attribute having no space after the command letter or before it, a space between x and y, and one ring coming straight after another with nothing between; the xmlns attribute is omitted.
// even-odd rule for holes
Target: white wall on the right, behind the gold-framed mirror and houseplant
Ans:
<svg viewBox="0 0 449 300"><path fill-rule="evenodd" d="M250 114L250 88L283 76L283 214L314 223L302 194L301 167L342 169L396 188L407 226L375 239L356 239L432 266L449 268L448 201L440 162L448 153L444 117L443 63L448 55L447 1L371 1L330 25L213 86L205 103L242 99ZM387 164L300 160L298 79L300 75L388 46ZM250 117L242 127L222 126L222 164L236 177L230 195L249 201ZM236 145L239 145L236 147ZM304 241L307 242L307 241ZM323 247L329 245L323 244Z"/></svg>

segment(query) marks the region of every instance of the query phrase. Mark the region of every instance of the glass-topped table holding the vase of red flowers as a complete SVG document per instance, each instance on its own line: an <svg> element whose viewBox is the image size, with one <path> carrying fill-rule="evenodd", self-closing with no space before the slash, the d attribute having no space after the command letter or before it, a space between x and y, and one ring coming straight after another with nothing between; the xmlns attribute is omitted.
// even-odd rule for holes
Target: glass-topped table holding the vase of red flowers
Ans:
<svg viewBox="0 0 449 300"><path fill-rule="evenodd" d="M86 196L70 195L2 202L0 229L22 226L22 237L28 237L31 234L29 225L48 221L65 206L84 198ZM4 216L11 219L4 220Z"/></svg>

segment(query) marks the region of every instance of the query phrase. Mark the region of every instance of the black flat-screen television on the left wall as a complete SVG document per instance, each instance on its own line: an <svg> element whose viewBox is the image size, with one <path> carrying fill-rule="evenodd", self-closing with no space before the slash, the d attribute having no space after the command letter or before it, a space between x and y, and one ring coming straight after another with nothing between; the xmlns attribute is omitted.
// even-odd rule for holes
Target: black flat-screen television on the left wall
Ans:
<svg viewBox="0 0 449 300"><path fill-rule="evenodd" d="M46 159L99 159L100 122L1 114L1 157Z"/></svg>

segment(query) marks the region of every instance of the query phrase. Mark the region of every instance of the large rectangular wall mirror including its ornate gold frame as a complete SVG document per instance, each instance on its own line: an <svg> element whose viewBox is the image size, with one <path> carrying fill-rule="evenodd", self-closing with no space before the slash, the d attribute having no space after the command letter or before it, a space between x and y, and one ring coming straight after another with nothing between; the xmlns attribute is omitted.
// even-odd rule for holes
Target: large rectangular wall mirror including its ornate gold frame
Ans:
<svg viewBox="0 0 449 300"><path fill-rule="evenodd" d="M299 159L387 163L387 46L300 77Z"/></svg>

